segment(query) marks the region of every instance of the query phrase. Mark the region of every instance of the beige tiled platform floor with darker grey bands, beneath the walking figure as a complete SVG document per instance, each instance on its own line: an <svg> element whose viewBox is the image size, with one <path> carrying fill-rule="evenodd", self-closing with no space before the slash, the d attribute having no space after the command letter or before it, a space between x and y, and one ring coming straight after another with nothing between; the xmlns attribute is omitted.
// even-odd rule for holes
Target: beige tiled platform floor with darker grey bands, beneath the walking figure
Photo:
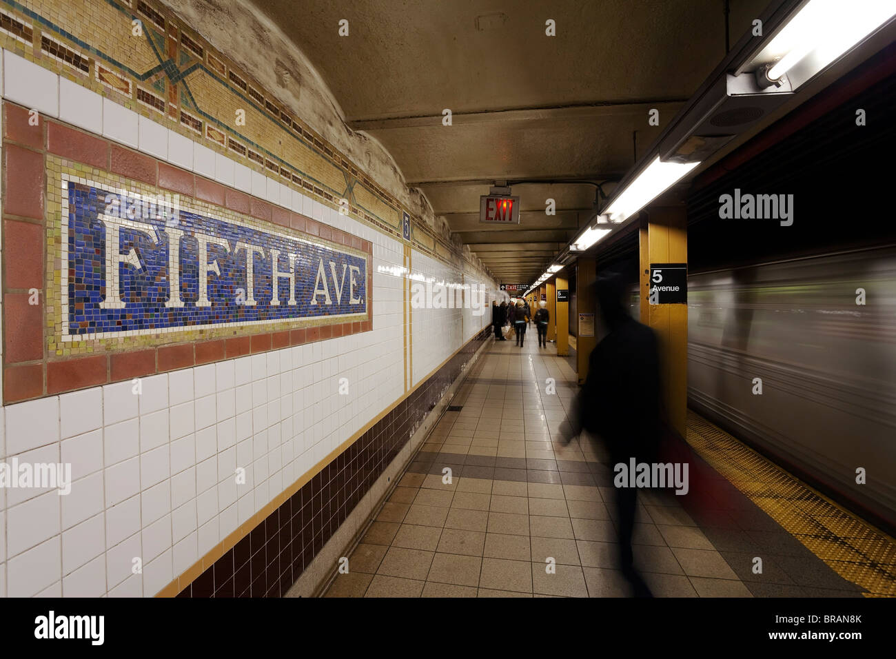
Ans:
<svg viewBox="0 0 896 659"><path fill-rule="evenodd" d="M559 440L574 373L553 344L529 339L487 348L452 402L461 410L439 421L326 596L630 595L601 447ZM642 491L638 504L635 561L655 595L860 596L686 445L677 450L692 463L691 493Z"/></svg>

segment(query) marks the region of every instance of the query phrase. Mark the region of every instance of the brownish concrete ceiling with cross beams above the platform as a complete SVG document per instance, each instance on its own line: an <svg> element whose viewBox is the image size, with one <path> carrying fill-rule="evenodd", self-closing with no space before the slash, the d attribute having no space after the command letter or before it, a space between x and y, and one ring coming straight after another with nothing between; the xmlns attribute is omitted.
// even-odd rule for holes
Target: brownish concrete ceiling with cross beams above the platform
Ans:
<svg viewBox="0 0 896 659"><path fill-rule="evenodd" d="M545 181L621 177L725 55L724 0L252 2L503 282L535 279L590 217L595 186ZM730 0L732 43L765 4ZM497 180L519 226L478 221Z"/></svg>

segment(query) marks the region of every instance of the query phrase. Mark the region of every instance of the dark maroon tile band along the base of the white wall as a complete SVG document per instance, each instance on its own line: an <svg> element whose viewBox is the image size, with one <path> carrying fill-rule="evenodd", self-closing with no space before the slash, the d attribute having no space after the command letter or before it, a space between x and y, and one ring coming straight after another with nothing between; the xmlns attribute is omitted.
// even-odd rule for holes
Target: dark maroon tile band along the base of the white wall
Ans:
<svg viewBox="0 0 896 659"><path fill-rule="evenodd" d="M178 597L281 597L348 519L376 479L435 408L492 328L476 334L448 363L359 437L243 540L225 551Z"/></svg>

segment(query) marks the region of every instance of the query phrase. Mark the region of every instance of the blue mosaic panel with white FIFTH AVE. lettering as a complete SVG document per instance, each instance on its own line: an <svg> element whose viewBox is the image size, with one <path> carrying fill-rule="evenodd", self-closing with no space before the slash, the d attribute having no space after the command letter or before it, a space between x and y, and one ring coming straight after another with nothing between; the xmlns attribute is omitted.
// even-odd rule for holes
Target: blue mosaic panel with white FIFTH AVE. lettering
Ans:
<svg viewBox="0 0 896 659"><path fill-rule="evenodd" d="M62 179L62 341L367 315L368 256Z"/></svg>

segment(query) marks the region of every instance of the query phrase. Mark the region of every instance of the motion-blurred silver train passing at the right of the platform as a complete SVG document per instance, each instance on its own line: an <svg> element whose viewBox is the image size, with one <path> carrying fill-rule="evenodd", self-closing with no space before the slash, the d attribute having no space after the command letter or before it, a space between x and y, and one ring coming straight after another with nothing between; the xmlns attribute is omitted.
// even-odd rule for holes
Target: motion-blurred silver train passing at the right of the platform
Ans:
<svg viewBox="0 0 896 659"><path fill-rule="evenodd" d="M690 274L687 368L692 409L896 527L896 246Z"/></svg>

